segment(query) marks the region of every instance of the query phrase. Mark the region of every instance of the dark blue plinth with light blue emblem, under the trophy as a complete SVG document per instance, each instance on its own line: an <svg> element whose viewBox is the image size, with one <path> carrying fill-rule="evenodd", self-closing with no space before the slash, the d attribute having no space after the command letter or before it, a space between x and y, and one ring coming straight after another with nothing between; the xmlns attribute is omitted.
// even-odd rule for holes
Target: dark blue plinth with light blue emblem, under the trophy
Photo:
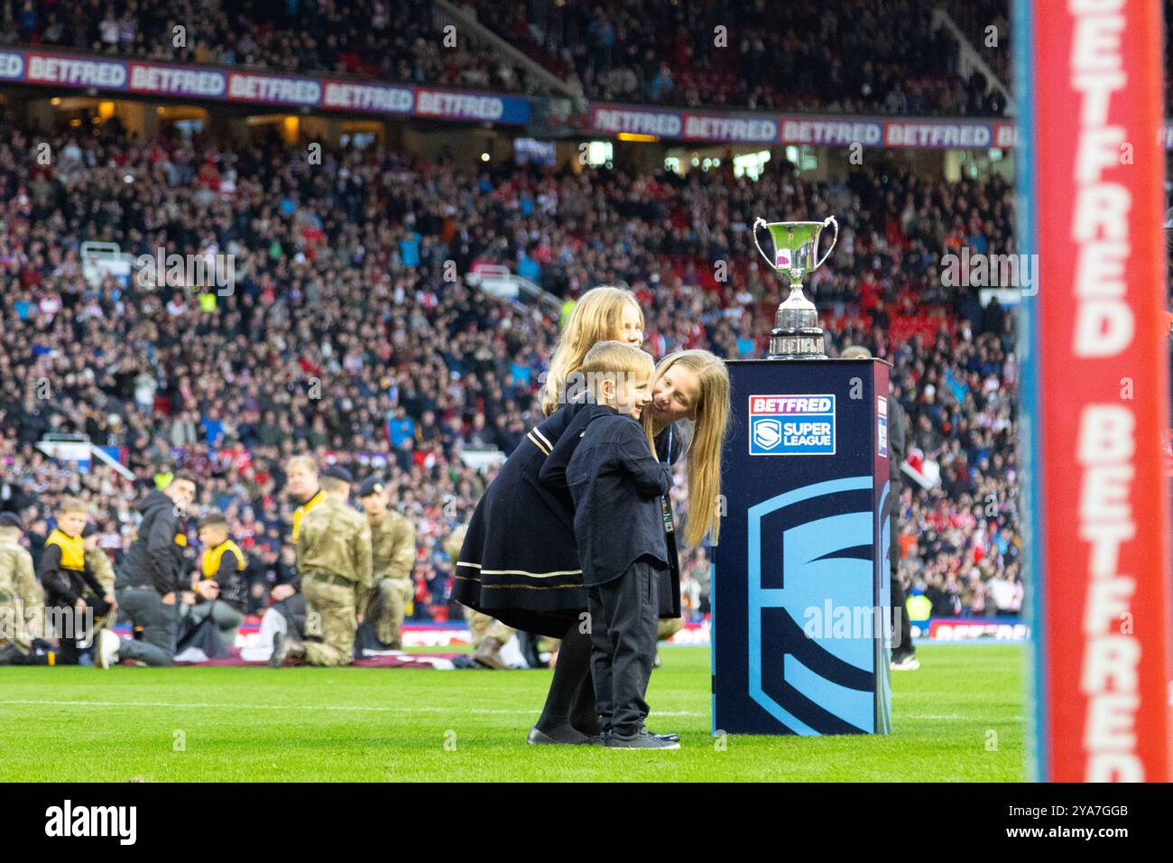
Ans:
<svg viewBox="0 0 1173 863"><path fill-rule="evenodd" d="M888 364L743 360L730 377L713 731L887 734Z"/></svg>

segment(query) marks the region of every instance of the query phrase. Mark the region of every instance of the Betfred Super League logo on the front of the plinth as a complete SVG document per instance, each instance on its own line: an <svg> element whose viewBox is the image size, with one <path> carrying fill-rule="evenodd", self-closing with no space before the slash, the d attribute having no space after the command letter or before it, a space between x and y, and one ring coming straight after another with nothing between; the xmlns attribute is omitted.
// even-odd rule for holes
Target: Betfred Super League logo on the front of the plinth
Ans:
<svg viewBox="0 0 1173 863"><path fill-rule="evenodd" d="M751 396L751 456L834 456L835 397Z"/></svg>

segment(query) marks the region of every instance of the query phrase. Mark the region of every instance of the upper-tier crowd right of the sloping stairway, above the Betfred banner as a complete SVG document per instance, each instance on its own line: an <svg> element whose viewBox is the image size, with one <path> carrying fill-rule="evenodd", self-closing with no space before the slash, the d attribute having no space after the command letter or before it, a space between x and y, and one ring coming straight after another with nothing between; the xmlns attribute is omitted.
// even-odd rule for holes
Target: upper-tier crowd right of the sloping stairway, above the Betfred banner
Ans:
<svg viewBox="0 0 1173 863"><path fill-rule="evenodd" d="M590 99L843 114L1001 116L931 7L800 0L569 0L514 4L483 20ZM647 27L646 21L663 22Z"/></svg>

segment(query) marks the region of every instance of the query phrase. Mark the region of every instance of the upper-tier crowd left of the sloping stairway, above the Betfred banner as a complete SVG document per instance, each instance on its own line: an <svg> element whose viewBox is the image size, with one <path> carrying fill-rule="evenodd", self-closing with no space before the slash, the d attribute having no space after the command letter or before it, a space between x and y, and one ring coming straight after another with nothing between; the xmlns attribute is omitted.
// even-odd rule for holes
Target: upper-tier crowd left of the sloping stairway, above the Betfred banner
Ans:
<svg viewBox="0 0 1173 863"><path fill-rule="evenodd" d="M535 92L522 66L442 36L429 0L9 0L0 20L0 45Z"/></svg>

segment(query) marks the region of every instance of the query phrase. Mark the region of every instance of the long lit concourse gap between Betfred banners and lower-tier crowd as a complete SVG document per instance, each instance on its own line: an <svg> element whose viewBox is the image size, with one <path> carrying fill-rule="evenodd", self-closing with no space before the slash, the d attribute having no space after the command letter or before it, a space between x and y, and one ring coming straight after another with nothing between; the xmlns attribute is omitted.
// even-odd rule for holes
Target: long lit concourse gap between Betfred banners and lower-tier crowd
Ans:
<svg viewBox="0 0 1173 863"><path fill-rule="evenodd" d="M191 141L203 136L232 146L279 141L289 147L393 148L426 159L449 160L473 167L477 163L558 167L581 173L606 168L684 176L691 171L725 170L755 180L771 161L789 166L795 176L827 180L860 164L862 150L853 146L809 143L693 143L680 144L656 135L617 133L595 137L558 133L548 140L531 137L524 129L491 123L466 127L453 134L450 122L427 119L372 120L300 109L297 113L258 110L237 103L190 103L168 99L149 101L76 95L63 90L52 95L45 88L0 87L0 99L9 114L29 128L46 132L103 128L126 132L149 141L160 135ZM1003 148L941 148L869 150L869 160L883 159L894 170L913 170L950 182L997 174L1013 177L1013 160Z"/></svg>

